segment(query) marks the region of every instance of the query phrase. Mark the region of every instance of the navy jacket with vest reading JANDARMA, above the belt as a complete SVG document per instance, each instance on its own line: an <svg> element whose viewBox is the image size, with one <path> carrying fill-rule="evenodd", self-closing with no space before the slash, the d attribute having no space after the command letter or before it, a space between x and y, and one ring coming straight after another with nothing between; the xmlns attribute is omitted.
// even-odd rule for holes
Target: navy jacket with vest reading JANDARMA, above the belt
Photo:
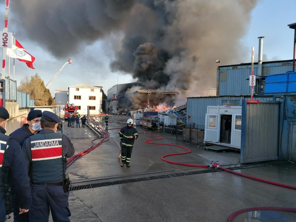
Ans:
<svg viewBox="0 0 296 222"><path fill-rule="evenodd" d="M73 144L66 135L54 133L51 129L43 129L38 135L28 138L22 150L27 167L32 164L34 183L62 181L62 159L72 157L75 152Z"/></svg>

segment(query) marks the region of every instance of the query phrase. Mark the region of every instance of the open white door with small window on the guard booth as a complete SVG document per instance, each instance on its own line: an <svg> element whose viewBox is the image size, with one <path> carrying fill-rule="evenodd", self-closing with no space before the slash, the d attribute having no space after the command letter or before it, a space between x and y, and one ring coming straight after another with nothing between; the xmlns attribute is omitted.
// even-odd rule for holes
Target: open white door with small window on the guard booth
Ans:
<svg viewBox="0 0 296 222"><path fill-rule="evenodd" d="M205 115L205 142L218 143L220 139L220 114Z"/></svg>

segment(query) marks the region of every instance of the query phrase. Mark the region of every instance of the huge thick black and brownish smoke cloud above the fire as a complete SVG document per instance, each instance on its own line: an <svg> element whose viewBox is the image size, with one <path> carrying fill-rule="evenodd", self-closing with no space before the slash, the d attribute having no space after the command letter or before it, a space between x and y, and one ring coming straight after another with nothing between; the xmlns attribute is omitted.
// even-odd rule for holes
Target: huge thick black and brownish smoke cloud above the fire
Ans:
<svg viewBox="0 0 296 222"><path fill-rule="evenodd" d="M133 75L146 89L178 87L202 95L215 87L215 59L221 65L245 62L240 38L256 2L20 0L12 8L28 38L57 57L117 33L124 37L121 47L109 49L115 52L112 71ZM134 100L142 106L146 99Z"/></svg>

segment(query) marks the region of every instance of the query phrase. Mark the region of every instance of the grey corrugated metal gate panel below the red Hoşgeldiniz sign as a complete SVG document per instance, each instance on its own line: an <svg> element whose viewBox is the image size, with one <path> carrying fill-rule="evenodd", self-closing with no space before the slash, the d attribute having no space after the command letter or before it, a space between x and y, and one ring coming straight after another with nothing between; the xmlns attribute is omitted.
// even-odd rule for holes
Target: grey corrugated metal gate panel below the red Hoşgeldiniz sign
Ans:
<svg viewBox="0 0 296 222"><path fill-rule="evenodd" d="M242 101L241 163L279 159L278 101Z"/></svg>

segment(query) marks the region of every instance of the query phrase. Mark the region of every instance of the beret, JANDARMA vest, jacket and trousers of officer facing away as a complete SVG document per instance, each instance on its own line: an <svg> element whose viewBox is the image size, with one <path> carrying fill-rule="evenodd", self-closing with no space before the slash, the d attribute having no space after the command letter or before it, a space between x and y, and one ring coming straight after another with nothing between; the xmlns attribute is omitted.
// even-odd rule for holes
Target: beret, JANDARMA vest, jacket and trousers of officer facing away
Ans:
<svg viewBox="0 0 296 222"><path fill-rule="evenodd" d="M42 118L60 122L58 116L49 111L44 111ZM30 221L48 221L49 208L53 221L70 221L69 191L64 192L62 185L67 167L65 157L71 157L75 152L70 139L52 129L42 129L28 138L22 149L27 165L30 165L33 200Z"/></svg>

